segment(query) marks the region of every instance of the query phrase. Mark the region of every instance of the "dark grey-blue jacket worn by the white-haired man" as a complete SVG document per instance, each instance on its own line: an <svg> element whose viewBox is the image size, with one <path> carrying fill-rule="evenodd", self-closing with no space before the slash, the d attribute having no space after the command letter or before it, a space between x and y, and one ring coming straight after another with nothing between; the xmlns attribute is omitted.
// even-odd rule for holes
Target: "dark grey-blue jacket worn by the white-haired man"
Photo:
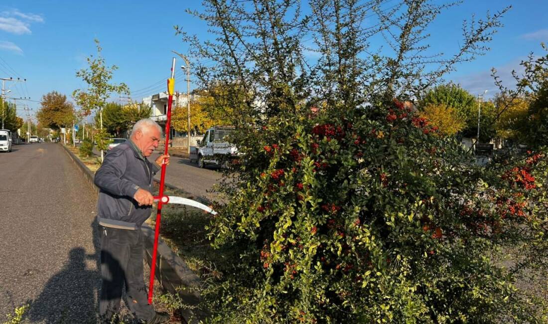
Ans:
<svg viewBox="0 0 548 324"><path fill-rule="evenodd" d="M97 219L110 228L135 230L150 217L151 206L139 206L133 199L141 188L152 192L152 181L160 167L142 156L131 140L113 147L95 172L99 187Z"/></svg>

